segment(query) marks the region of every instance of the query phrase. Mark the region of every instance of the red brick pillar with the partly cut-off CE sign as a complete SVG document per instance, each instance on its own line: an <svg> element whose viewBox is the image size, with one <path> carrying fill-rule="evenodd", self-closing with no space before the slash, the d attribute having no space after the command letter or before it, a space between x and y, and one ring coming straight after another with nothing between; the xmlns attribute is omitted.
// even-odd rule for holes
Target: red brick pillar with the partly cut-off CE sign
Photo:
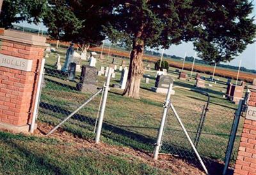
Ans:
<svg viewBox="0 0 256 175"><path fill-rule="evenodd" d="M256 86L248 88L248 109L234 171L237 175L256 175Z"/></svg>

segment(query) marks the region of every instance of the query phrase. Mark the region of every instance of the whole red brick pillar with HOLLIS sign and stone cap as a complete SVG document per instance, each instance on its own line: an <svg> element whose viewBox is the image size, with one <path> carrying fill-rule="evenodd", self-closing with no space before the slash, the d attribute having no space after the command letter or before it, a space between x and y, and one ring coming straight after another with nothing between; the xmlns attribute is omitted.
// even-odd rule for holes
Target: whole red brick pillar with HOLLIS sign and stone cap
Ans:
<svg viewBox="0 0 256 175"><path fill-rule="evenodd" d="M28 132L45 38L0 29L0 128Z"/></svg>

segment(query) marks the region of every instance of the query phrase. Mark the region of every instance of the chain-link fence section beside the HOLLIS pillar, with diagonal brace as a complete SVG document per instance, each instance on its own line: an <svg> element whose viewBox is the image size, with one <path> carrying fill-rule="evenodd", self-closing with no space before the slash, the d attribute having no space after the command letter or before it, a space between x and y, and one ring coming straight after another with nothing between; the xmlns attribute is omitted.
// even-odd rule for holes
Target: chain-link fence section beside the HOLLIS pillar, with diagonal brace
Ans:
<svg viewBox="0 0 256 175"><path fill-rule="evenodd" d="M74 80L68 80L68 73L57 70L56 54L50 55L46 60L38 119L56 126L83 105L94 92L82 93L77 87L81 72L75 74ZM61 57L60 61L63 63L64 57ZM100 83L97 85L102 87ZM63 123L61 128L80 137L93 139L93 130L95 130L96 119L99 116L100 99L101 93Z"/></svg>

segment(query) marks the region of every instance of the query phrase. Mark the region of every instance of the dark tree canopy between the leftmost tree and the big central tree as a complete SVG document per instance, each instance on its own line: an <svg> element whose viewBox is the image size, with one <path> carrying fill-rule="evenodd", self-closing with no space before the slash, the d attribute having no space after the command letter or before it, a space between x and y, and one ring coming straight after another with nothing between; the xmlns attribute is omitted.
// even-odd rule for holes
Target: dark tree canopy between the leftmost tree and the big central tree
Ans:
<svg viewBox="0 0 256 175"><path fill-rule="evenodd" d="M44 24L52 38L79 45L99 45L106 37L102 31L109 9L108 1L49 0Z"/></svg>

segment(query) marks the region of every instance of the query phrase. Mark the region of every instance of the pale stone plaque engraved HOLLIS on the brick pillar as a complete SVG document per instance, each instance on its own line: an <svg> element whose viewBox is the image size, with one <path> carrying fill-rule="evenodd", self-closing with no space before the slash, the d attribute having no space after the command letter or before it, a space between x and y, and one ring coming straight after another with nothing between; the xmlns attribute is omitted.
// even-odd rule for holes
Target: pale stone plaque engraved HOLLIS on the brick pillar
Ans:
<svg viewBox="0 0 256 175"><path fill-rule="evenodd" d="M31 72L32 60L0 54L0 66Z"/></svg>

